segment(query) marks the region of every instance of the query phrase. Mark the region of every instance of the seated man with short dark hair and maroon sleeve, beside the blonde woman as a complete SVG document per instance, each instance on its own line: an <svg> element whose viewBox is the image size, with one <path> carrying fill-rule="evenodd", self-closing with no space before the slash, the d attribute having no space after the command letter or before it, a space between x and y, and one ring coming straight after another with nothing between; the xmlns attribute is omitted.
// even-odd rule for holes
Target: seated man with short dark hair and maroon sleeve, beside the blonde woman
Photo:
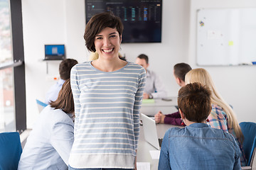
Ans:
<svg viewBox="0 0 256 170"><path fill-rule="evenodd" d="M185 86L185 75L191 70L191 67L186 63L178 63L174 65L174 77L179 86ZM166 123L171 125L184 125L181 121L181 115L177 111L176 113L164 115L159 111L154 115L156 123Z"/></svg>

